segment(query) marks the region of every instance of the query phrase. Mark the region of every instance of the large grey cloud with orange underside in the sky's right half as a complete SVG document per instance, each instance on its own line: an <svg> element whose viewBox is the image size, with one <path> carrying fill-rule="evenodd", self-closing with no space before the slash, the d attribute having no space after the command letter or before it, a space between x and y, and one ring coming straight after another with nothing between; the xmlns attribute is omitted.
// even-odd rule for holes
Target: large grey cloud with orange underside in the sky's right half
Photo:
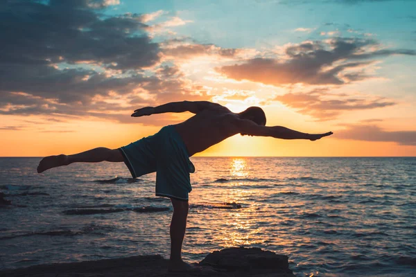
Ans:
<svg viewBox="0 0 416 277"><path fill-rule="evenodd" d="M337 37L328 42L303 42L286 48L286 59L257 57L243 64L223 66L220 73L235 80L263 84L345 84L363 80L365 73L351 69L366 66L372 59L388 55L416 55L408 49L369 50L379 44L374 39ZM370 60L370 61L369 61Z"/></svg>

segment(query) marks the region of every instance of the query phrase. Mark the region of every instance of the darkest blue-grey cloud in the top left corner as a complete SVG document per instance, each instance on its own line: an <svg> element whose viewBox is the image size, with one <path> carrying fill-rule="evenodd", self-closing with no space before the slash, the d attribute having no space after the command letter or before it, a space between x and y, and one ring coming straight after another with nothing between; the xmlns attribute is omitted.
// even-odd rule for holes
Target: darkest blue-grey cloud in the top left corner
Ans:
<svg viewBox="0 0 416 277"><path fill-rule="evenodd" d="M0 64L91 61L139 69L159 61L159 46L150 42L139 16L101 18L89 2L8 1L0 10Z"/></svg>

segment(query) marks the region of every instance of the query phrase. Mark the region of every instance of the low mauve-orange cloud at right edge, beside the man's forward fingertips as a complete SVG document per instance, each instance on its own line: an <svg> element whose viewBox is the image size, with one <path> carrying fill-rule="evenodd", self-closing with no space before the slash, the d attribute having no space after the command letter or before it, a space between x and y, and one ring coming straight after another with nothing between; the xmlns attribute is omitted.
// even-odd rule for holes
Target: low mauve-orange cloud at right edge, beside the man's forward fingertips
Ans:
<svg viewBox="0 0 416 277"><path fill-rule="evenodd" d="M336 139L355 141L395 142L399 145L416 145L416 131L385 131L376 125L350 125L335 132Z"/></svg>

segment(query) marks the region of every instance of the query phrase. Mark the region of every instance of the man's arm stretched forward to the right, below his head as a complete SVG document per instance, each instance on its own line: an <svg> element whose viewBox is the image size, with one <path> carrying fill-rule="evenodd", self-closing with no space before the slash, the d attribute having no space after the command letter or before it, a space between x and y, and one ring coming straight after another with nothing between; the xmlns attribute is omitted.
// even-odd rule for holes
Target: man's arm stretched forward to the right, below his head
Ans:
<svg viewBox="0 0 416 277"><path fill-rule="evenodd" d="M324 136L330 136L332 132L324 134L307 134L289 129L283 126L261 126L251 120L239 120L237 123L240 132L251 136L272 136L275 139L309 139L316 141Z"/></svg>

